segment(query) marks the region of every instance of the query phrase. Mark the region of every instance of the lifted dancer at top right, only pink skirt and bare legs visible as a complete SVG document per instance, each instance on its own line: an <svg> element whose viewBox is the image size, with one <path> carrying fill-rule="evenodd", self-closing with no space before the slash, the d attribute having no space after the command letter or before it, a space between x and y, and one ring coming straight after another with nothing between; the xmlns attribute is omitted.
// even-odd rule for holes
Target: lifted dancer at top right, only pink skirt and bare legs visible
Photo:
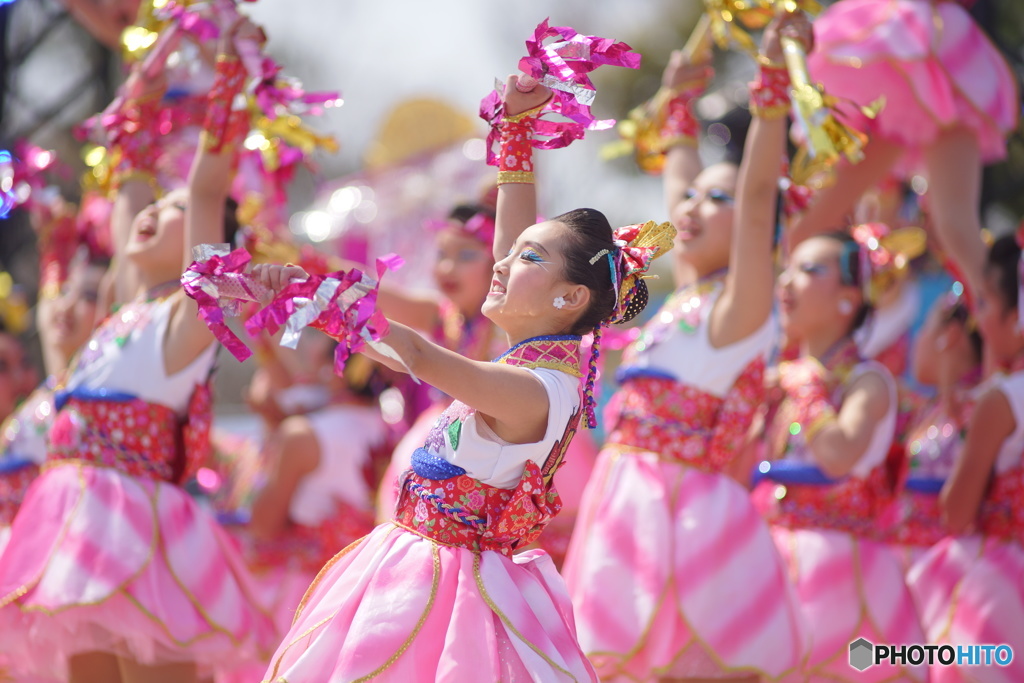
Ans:
<svg viewBox="0 0 1024 683"><path fill-rule="evenodd" d="M864 161L840 165L794 225L793 244L841 225L899 162L903 175L924 171L943 251L961 260L969 289L980 286L981 169L1006 156L1020 98L1006 59L961 4L969 3L842 0L815 20L812 79L860 105L885 97L885 108Z"/></svg>

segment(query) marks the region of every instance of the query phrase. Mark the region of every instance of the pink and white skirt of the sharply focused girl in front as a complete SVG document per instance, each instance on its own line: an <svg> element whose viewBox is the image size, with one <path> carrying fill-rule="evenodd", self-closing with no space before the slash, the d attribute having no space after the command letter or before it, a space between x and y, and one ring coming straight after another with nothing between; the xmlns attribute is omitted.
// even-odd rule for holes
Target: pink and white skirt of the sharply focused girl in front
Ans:
<svg viewBox="0 0 1024 683"><path fill-rule="evenodd" d="M596 681L551 559L378 526L321 571L267 681Z"/></svg>

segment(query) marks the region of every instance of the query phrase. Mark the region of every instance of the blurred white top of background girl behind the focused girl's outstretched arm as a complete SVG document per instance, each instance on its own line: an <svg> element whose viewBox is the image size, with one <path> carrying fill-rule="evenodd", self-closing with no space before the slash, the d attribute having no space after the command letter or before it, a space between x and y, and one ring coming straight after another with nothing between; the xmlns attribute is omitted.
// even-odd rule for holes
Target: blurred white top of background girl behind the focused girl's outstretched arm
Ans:
<svg viewBox="0 0 1024 683"><path fill-rule="evenodd" d="M319 441L319 464L295 488L289 518L316 526L335 513L337 501L370 510L372 492L362 467L387 436L380 408L329 405L306 418Z"/></svg>

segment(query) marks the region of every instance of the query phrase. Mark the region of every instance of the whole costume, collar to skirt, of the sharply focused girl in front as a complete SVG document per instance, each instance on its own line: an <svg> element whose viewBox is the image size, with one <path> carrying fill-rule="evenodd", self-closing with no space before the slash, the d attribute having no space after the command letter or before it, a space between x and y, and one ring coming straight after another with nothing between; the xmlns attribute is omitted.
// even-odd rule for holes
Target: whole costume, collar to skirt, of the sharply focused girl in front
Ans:
<svg viewBox="0 0 1024 683"><path fill-rule="evenodd" d="M597 680L550 558L514 554L560 508L552 476L580 420L579 353L579 337L540 337L497 360L547 390L536 443L502 441L460 401L444 411L394 519L321 571L266 680Z"/></svg>

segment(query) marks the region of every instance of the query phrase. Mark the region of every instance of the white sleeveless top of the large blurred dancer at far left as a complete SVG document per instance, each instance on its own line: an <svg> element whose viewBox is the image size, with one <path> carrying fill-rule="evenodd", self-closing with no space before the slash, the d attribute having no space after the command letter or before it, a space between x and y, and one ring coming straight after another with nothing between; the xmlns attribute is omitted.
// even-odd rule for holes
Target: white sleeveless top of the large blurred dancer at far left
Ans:
<svg viewBox="0 0 1024 683"><path fill-rule="evenodd" d="M164 372L164 338L173 302L171 297L122 306L86 342L82 358L65 389L128 393L183 416L196 386L210 375L217 345L211 340L187 367L168 376ZM135 315L137 322L132 325ZM122 336L124 341L119 342Z"/></svg>

